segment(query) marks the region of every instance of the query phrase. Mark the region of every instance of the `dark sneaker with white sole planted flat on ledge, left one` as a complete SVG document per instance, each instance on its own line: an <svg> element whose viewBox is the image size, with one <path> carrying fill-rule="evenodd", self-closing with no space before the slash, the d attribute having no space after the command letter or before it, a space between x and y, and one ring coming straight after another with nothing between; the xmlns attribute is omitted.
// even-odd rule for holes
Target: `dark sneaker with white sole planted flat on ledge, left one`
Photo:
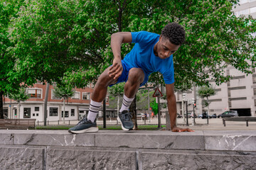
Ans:
<svg viewBox="0 0 256 170"><path fill-rule="evenodd" d="M91 120L87 120L87 118L83 118L78 125L70 128L68 132L72 133L85 133L85 132L97 132L99 128L97 128L96 121L92 123Z"/></svg>

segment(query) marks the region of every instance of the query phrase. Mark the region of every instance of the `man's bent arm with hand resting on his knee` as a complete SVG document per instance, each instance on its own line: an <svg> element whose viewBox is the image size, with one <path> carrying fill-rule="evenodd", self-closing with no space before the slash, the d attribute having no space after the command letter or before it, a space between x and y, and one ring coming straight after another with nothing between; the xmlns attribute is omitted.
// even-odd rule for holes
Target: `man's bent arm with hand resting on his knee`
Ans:
<svg viewBox="0 0 256 170"><path fill-rule="evenodd" d="M110 67L110 77L117 79L122 74L121 45L125 42L132 42L132 33L119 32L111 35L111 48L114 55L113 64Z"/></svg>

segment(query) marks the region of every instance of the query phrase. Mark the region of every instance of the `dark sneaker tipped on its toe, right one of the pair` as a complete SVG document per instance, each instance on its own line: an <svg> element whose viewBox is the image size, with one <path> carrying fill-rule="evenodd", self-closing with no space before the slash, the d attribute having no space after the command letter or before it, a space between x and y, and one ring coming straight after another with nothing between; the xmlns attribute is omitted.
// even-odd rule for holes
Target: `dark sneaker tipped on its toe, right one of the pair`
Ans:
<svg viewBox="0 0 256 170"><path fill-rule="evenodd" d="M128 111L122 111L122 113L119 113L117 119L122 123L122 130L132 130L132 128L134 128L132 115Z"/></svg>

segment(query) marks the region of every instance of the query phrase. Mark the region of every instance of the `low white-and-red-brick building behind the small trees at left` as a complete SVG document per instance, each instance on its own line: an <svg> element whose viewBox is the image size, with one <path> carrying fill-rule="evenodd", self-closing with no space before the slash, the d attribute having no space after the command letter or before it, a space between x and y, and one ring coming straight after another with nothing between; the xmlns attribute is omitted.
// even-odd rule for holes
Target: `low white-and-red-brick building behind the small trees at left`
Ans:
<svg viewBox="0 0 256 170"><path fill-rule="evenodd" d="M84 89L75 89L75 94L68 98L68 100L65 100L65 120L80 120L87 115L93 87L90 84ZM50 86L48 91L47 120L63 120L63 98L56 98L53 91L54 87ZM38 82L27 89L27 94L28 100L21 101L20 106L18 106L17 101L12 101L5 96L5 115L8 118L35 118L37 121L43 121L46 85ZM108 96L106 104L109 104ZM99 116L102 116L102 110L99 112Z"/></svg>

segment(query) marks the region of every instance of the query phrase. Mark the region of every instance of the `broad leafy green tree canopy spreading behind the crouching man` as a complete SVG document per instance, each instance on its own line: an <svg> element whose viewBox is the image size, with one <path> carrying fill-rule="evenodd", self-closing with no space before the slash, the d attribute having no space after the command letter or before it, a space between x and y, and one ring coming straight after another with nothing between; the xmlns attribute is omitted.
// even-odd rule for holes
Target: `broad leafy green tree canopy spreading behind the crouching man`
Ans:
<svg viewBox="0 0 256 170"><path fill-rule="evenodd" d="M138 4L144 4L140 6ZM95 80L112 63L110 35L147 30L161 34L166 23L180 23L186 42L174 55L176 89L229 79L228 64L245 73L255 67L256 22L233 15L238 1L26 1L10 27L19 73L74 86ZM122 46L122 57L132 45ZM82 81L81 81L82 79ZM160 74L151 82L164 84Z"/></svg>

